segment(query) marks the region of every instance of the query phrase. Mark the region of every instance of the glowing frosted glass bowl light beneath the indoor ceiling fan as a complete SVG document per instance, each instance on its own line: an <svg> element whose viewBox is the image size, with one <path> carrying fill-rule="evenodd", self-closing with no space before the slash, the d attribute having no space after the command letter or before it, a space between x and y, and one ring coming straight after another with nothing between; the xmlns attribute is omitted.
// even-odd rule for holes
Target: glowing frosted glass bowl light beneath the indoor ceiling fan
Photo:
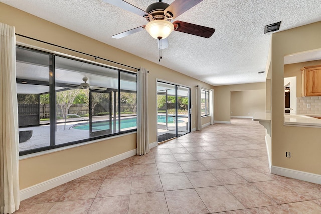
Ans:
<svg viewBox="0 0 321 214"><path fill-rule="evenodd" d="M153 20L146 24L146 31L155 39L165 39L174 30L174 25L166 20Z"/></svg>

